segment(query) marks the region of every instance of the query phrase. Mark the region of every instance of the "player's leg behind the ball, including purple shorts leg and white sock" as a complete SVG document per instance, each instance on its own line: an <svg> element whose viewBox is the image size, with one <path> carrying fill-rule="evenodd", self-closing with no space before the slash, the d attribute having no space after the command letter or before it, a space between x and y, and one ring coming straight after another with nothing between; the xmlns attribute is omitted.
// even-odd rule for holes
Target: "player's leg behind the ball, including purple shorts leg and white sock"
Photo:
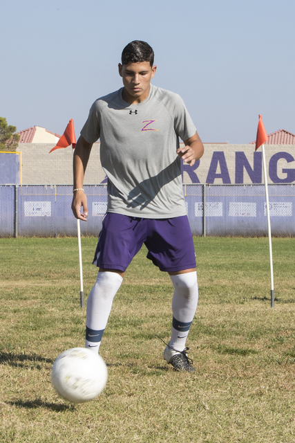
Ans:
<svg viewBox="0 0 295 443"><path fill-rule="evenodd" d="M85 347L96 352L124 271L142 247L146 231L141 226L140 219L113 213L107 213L102 221L93 260L99 273L88 296L86 310Z"/></svg>

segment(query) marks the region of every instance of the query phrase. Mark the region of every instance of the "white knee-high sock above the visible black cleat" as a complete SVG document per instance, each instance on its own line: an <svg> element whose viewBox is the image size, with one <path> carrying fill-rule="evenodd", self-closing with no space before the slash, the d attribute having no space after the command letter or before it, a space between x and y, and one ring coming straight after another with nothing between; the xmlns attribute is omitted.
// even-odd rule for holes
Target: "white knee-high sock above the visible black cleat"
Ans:
<svg viewBox="0 0 295 443"><path fill-rule="evenodd" d="M172 299L173 322L169 346L176 351L183 351L198 306L197 273L194 271L170 275L170 278L174 286L174 293Z"/></svg>

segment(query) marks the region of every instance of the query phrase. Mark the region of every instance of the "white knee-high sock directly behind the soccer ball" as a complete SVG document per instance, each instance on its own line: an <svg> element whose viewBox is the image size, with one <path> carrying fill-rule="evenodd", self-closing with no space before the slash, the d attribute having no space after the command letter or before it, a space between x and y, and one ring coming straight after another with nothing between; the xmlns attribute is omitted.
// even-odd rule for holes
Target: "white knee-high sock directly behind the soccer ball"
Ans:
<svg viewBox="0 0 295 443"><path fill-rule="evenodd" d="M113 298L123 278L115 272L99 272L93 289L89 293L86 308L85 347L98 352L102 334L113 305Z"/></svg>

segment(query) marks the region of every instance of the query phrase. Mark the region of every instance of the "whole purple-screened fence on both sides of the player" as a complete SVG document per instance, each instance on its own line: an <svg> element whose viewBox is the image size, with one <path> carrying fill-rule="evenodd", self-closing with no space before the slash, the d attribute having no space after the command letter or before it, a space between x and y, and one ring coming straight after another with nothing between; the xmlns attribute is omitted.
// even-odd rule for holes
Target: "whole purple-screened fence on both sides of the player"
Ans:
<svg viewBox="0 0 295 443"><path fill-rule="evenodd" d="M183 185L187 215L193 235L266 236L264 185ZM295 236L295 185L269 185L272 235ZM106 185L84 186L88 196L88 221L82 235L97 236L106 213ZM73 186L0 186L0 237L77 235L70 209Z"/></svg>

